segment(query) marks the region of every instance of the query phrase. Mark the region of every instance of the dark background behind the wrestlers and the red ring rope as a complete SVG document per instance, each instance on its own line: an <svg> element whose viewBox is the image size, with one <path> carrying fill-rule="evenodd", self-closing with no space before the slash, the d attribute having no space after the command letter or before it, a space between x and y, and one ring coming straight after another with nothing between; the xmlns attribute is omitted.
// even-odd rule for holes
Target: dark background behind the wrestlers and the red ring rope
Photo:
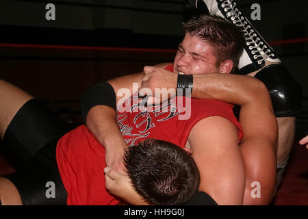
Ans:
<svg viewBox="0 0 308 219"><path fill-rule="evenodd" d="M307 1L237 2L248 17L253 3L261 5L261 20L252 23L273 43L294 79L303 86L298 129L307 129L307 40L274 43L308 38ZM55 21L45 18L47 3L55 5ZM145 65L172 61L183 35L183 8L184 0L1 0L0 43L74 48L16 48L0 44L0 78L34 94L53 110L67 107L79 120L79 96L94 83L138 72ZM106 47L169 50L102 49Z"/></svg>

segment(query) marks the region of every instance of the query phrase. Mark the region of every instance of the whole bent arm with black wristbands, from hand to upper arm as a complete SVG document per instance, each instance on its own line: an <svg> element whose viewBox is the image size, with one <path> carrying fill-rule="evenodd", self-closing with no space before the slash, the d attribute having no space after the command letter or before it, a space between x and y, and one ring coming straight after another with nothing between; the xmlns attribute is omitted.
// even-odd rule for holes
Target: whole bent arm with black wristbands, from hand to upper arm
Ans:
<svg viewBox="0 0 308 219"><path fill-rule="evenodd" d="M159 83L168 77L169 83ZM170 82L172 81L172 82ZM142 81L143 83L144 81ZM177 75L161 68L150 68L146 86L151 88L176 88ZM172 86L170 86L172 84ZM276 179L277 120L272 110L270 95L264 83L243 75L194 75L192 97L219 99L241 105L240 123L244 138L240 151L246 172L244 204L268 204L272 198ZM253 182L261 185L261 198L251 197Z"/></svg>

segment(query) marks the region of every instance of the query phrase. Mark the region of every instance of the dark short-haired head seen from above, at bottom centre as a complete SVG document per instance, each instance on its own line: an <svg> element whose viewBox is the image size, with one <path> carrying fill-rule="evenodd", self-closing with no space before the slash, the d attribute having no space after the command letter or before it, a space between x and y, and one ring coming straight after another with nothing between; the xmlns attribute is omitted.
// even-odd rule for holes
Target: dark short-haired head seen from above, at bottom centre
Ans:
<svg viewBox="0 0 308 219"><path fill-rule="evenodd" d="M150 205L182 205L198 191L194 159L170 142L146 139L125 153L133 188Z"/></svg>

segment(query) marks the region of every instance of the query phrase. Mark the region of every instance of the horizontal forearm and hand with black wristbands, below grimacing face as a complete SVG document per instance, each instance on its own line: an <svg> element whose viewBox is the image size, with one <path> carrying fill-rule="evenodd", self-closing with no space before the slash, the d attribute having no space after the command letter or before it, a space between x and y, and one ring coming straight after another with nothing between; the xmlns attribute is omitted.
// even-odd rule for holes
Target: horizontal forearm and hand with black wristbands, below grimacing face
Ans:
<svg viewBox="0 0 308 219"><path fill-rule="evenodd" d="M189 88L190 79L187 79L188 84L186 84L183 77L185 75L181 77L181 83L179 83L179 75L170 73L163 68L151 67L142 79L141 88L149 88L153 94L155 88L166 88L167 90L178 87ZM259 98L256 94L264 88L266 88L264 83L254 77L209 73L193 75L192 97L195 99L218 99L227 103L244 105L253 98ZM160 92L156 96L159 97Z"/></svg>

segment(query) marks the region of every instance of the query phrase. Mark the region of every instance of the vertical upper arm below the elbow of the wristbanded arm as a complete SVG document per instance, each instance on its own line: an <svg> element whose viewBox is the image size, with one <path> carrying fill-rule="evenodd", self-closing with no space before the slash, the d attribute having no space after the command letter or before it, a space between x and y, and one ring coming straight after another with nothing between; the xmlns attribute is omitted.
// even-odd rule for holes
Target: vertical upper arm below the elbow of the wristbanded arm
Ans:
<svg viewBox="0 0 308 219"><path fill-rule="evenodd" d="M276 183L278 126L265 86L242 105L240 123L244 130L240 150L246 169L244 204L268 205ZM256 185L261 194L257 197L251 195Z"/></svg>

